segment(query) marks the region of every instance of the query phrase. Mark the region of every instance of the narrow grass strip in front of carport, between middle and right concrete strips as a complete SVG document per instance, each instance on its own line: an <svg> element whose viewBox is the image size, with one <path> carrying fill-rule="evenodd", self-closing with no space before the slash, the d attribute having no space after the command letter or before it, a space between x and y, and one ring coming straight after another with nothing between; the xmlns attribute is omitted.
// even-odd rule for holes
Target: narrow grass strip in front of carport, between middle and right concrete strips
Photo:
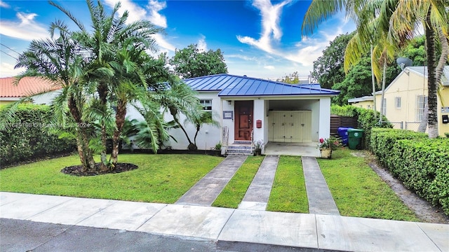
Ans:
<svg viewBox="0 0 449 252"><path fill-rule="evenodd" d="M279 158L267 210L309 213L301 157L281 156Z"/></svg>

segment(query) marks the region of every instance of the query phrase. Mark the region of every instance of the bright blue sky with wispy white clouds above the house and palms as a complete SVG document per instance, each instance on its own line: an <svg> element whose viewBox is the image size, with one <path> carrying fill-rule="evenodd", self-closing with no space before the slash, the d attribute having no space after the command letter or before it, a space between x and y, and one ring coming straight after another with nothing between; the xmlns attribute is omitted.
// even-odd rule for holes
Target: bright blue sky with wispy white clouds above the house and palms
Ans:
<svg viewBox="0 0 449 252"><path fill-rule="evenodd" d="M89 25L85 1L56 2ZM110 8L116 0L103 3ZM159 52L169 57L175 49L195 43L204 50L220 48L231 74L276 79L297 71L306 78L329 42L355 29L353 22L337 15L302 38L302 18L309 4L297 0L122 0L119 12L128 10L129 21L146 19L165 29L155 38ZM72 25L47 1L0 0L0 77L20 72L13 69L14 57L32 39L46 38L55 20Z"/></svg>

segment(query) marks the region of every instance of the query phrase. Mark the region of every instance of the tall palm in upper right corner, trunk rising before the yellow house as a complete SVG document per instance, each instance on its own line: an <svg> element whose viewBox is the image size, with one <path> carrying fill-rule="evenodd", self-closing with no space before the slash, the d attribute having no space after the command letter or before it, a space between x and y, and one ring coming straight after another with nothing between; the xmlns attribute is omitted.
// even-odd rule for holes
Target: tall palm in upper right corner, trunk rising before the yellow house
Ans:
<svg viewBox="0 0 449 252"><path fill-rule="evenodd" d="M380 12L368 6L377 6ZM312 33L323 20L340 11L345 11L347 16L354 19L359 34L361 45L370 46L376 44L377 31L384 34L388 31L390 45L401 48L407 41L413 38L413 34L422 23L426 35L427 66L428 66L428 86L429 86L429 137L438 137L437 108L436 108L436 87L441 82L444 63L448 60L448 6L449 1L370 1L370 0L339 0L339 1L312 1L302 24L303 34ZM370 29L370 25L376 23ZM375 32L373 32L375 31ZM439 41L443 45L441 57L436 65L435 34L438 34ZM346 60L346 59L345 59Z"/></svg>

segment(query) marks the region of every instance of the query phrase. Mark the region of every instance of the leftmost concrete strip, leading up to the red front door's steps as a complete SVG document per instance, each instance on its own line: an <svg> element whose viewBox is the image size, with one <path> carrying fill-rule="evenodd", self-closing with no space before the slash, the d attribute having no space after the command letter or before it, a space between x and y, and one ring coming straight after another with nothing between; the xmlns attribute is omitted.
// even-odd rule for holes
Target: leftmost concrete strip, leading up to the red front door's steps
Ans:
<svg viewBox="0 0 449 252"><path fill-rule="evenodd" d="M246 160L246 155L229 155L190 190L176 204L211 206L232 176Z"/></svg>

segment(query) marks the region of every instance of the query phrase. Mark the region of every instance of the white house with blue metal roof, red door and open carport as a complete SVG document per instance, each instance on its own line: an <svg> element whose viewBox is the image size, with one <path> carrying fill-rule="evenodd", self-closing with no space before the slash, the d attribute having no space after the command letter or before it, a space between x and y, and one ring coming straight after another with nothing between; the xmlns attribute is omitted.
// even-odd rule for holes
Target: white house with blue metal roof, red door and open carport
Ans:
<svg viewBox="0 0 449 252"><path fill-rule="evenodd" d="M203 125L196 139L201 150L221 142L225 146L251 141L311 143L330 135L330 97L340 91L319 84L290 85L272 80L217 74L183 80L198 92L206 111L220 127ZM173 118L166 114L166 120ZM181 119L181 122L184 118ZM189 137L196 130L187 125ZM173 149L186 149L187 139L179 129L170 135Z"/></svg>

